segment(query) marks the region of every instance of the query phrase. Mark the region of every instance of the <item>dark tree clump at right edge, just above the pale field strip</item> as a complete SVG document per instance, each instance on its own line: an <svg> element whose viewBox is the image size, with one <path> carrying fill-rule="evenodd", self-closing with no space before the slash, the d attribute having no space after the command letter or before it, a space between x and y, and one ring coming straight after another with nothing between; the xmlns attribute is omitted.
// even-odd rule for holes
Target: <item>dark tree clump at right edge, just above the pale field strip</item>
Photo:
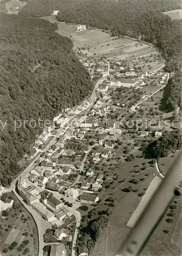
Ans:
<svg viewBox="0 0 182 256"><path fill-rule="evenodd" d="M141 151L146 158L160 159L167 157L170 153L180 150L181 135L178 130L172 132L165 132L161 138L152 141L151 143L144 143Z"/></svg>

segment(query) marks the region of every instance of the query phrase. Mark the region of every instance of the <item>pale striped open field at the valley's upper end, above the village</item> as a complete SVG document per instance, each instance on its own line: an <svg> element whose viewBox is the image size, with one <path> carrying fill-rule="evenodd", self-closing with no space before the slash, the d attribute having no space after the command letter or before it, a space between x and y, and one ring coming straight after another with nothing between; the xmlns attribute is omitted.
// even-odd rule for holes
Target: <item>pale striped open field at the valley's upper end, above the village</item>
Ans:
<svg viewBox="0 0 182 256"><path fill-rule="evenodd" d="M58 24L57 33L70 37L74 42L74 49L82 48L87 57L107 57L108 60L127 60L131 65L146 66L143 71L148 70L148 59L150 57L151 70L161 64L157 50L149 45L129 39L111 37L108 33L99 30L74 31L73 25ZM151 56L152 54L152 56ZM141 59L143 57L143 59Z"/></svg>

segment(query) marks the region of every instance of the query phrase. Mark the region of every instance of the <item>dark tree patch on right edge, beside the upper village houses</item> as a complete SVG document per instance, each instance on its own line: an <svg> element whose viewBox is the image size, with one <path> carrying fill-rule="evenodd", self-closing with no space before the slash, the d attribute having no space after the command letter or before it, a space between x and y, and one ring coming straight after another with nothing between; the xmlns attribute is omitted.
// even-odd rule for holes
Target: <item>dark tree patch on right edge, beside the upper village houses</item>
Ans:
<svg viewBox="0 0 182 256"><path fill-rule="evenodd" d="M160 105L161 111L171 112L181 106L181 84L182 72L179 70L169 79L167 86L164 88Z"/></svg>

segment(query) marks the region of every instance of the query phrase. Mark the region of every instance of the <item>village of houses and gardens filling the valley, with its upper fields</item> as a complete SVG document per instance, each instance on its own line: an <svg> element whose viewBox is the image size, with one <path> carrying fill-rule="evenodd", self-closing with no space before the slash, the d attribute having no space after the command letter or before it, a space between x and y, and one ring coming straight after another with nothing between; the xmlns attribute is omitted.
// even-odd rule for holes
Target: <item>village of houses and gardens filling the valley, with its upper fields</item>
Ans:
<svg viewBox="0 0 182 256"><path fill-rule="evenodd" d="M84 38L84 33L86 36L90 31L86 26L77 26L76 30L72 31L72 38L73 33L83 33ZM170 125L165 127L164 113L158 108L163 88L173 75L164 72L161 53L140 40L106 36L110 40L105 43L107 48L112 42L121 45L123 40L122 44L132 44L131 53L127 46L112 46L123 57L117 54L115 58L112 50L105 55L101 52L105 48L102 40L99 48L88 46L86 41L74 45L80 62L92 77L90 95L79 106L62 111L53 125L37 136L30 154L25 156L25 171L5 191L13 190L20 202L31 208L38 229L44 230L42 245L61 242L57 252L60 254L54 254L53 247L50 255L88 255L88 248L78 242L82 218L95 208L106 210L116 206L123 198L121 193L127 192L121 192L121 188L137 192L133 197L134 208L129 205L127 210L133 214L157 175L154 163L141 157L140 147L144 141L158 139L166 130L172 130ZM145 47L147 54L143 51ZM138 183L136 174L140 187L126 187L126 182ZM11 207L13 200L9 203ZM127 208L126 202L123 204Z"/></svg>

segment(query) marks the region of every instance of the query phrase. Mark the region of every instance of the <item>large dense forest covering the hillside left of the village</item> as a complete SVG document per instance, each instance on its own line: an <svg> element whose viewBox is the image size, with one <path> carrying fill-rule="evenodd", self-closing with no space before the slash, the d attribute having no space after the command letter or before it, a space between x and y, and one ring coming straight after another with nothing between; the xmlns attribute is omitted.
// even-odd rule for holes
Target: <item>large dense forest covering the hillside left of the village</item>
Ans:
<svg viewBox="0 0 182 256"><path fill-rule="evenodd" d="M89 93L90 78L72 41L46 20L0 14L0 181L7 186L40 129L15 120L49 119ZM3 129L3 124L7 124Z"/></svg>

